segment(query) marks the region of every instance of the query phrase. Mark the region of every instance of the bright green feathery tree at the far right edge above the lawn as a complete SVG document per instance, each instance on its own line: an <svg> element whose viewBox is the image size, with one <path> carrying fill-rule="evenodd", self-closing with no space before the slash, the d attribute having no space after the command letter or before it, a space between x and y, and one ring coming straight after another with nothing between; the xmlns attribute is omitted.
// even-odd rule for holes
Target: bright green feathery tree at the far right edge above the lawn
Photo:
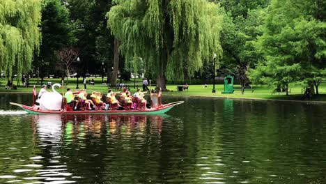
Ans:
<svg viewBox="0 0 326 184"><path fill-rule="evenodd" d="M320 7L315 5L313 0L272 1L256 43L264 60L250 72L254 82L282 87L287 94L288 86L297 83L309 91L316 84L318 91L325 78L326 23L317 19Z"/></svg>

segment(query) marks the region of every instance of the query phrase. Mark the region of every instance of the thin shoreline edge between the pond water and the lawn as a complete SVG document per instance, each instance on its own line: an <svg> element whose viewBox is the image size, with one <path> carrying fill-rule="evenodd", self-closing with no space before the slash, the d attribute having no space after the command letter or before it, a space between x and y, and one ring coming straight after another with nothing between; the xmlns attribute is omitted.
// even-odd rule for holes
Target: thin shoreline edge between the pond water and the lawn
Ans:
<svg viewBox="0 0 326 184"><path fill-rule="evenodd" d="M0 94L6 92L1 91ZM26 93L33 93L33 92L9 92L14 94L26 94ZM164 95L164 94L163 94ZM326 101L309 101L309 100L280 100L280 99L267 99L267 98L246 98L246 97L228 97L228 96L210 96L210 95L171 95L165 94L166 96L183 96L183 97L201 97L201 98L222 98L222 99L232 99L232 100L259 100L259 101L271 101L271 102L299 102L299 103L316 103L316 104L323 104Z"/></svg>

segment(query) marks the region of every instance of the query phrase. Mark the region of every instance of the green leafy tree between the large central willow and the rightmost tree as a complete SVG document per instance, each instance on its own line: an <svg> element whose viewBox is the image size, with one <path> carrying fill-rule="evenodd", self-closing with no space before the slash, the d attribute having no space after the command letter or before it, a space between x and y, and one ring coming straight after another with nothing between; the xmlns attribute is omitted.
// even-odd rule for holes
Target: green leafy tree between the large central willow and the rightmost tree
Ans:
<svg viewBox="0 0 326 184"><path fill-rule="evenodd" d="M249 82L247 70L254 68L261 58L254 47L257 36L261 36L264 7L269 1L221 1L224 14L221 45L223 59L221 74L233 74L244 86ZM232 6L231 6L232 5Z"/></svg>

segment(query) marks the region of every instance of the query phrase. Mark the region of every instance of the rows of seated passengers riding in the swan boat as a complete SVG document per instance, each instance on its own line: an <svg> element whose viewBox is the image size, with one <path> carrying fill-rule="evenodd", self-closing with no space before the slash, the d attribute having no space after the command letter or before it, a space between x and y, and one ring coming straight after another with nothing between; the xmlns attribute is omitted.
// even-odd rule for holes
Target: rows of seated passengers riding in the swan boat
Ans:
<svg viewBox="0 0 326 184"><path fill-rule="evenodd" d="M123 107L128 107L127 109L136 109L138 104L141 104L143 108L146 108L147 101L143 96L144 94L140 89L137 89L137 92L132 95L128 89L124 88L121 95L119 95L118 100L116 99L116 93L109 89L106 103L102 101L102 94L98 92L92 93L91 100L87 99L85 89L74 92L72 92L71 89L67 89L64 97L67 105L72 107L74 110L81 108L94 110L95 107L109 109L110 106L117 107L116 109L123 109ZM77 98L77 100L75 100L75 98Z"/></svg>

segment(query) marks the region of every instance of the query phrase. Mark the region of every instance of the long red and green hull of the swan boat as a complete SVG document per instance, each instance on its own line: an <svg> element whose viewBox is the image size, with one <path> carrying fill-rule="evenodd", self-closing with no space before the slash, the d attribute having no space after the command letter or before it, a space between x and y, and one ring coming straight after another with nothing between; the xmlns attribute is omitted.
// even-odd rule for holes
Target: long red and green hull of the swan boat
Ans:
<svg viewBox="0 0 326 184"><path fill-rule="evenodd" d="M84 111L41 111L36 107L20 105L10 102L11 105L22 107L29 114L164 114L176 105L182 104L183 101L172 102L161 105L158 109L141 109L141 110L84 110Z"/></svg>

